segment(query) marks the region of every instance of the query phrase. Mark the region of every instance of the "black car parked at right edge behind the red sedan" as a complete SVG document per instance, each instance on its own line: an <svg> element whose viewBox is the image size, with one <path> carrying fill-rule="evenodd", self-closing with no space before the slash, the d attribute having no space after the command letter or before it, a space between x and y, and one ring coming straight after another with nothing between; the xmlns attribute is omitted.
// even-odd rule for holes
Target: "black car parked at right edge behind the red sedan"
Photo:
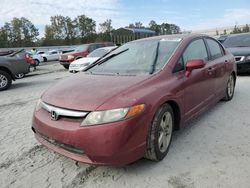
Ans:
<svg viewBox="0 0 250 188"><path fill-rule="evenodd" d="M250 33L228 35L222 44L235 56L238 73L250 73Z"/></svg>

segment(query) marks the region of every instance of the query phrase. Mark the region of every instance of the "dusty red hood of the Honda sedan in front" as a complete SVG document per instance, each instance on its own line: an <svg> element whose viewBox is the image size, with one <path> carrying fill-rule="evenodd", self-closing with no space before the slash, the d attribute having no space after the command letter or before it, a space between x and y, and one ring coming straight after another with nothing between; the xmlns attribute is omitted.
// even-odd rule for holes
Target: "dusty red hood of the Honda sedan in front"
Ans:
<svg viewBox="0 0 250 188"><path fill-rule="evenodd" d="M119 93L144 81L150 75L112 76L79 73L48 89L42 100L53 106L94 111Z"/></svg>

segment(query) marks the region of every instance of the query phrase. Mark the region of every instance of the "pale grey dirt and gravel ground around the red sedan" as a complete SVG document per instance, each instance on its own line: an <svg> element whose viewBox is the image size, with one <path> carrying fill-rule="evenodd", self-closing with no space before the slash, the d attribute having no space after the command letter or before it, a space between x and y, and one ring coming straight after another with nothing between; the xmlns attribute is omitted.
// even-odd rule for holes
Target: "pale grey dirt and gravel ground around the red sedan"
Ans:
<svg viewBox="0 0 250 188"><path fill-rule="evenodd" d="M0 92L0 187L249 187L250 77L235 97L174 133L167 157L125 167L76 163L41 146L30 129L39 96L70 76L58 63L39 66Z"/></svg>

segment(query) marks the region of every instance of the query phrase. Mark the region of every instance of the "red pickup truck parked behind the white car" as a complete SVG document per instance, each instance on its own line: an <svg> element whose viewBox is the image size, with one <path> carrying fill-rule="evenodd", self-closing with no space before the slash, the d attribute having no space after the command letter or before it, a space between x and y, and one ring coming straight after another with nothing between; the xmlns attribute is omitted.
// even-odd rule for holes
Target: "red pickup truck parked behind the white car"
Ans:
<svg viewBox="0 0 250 188"><path fill-rule="evenodd" d="M114 46L114 43L102 42L80 45L73 52L60 55L60 64L63 65L65 69L69 69L70 63L74 60L86 57L92 51L105 46Z"/></svg>

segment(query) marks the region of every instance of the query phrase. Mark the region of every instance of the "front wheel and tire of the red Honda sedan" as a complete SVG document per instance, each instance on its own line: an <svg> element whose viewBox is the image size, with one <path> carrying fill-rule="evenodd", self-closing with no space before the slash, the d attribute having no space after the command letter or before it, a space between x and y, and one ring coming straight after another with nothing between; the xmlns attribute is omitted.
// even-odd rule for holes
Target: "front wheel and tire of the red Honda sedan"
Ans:
<svg viewBox="0 0 250 188"><path fill-rule="evenodd" d="M145 158L161 161L168 153L174 129L174 113L169 104L164 104L155 114L147 138Z"/></svg>

